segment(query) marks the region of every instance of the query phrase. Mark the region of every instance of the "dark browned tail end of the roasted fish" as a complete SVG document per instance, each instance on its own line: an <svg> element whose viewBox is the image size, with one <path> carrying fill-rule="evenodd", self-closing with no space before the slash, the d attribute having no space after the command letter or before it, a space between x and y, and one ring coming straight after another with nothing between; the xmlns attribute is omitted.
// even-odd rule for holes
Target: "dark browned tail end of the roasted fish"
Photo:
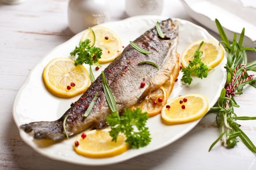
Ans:
<svg viewBox="0 0 256 170"><path fill-rule="evenodd" d="M35 139L60 140L65 137L62 124L53 122L31 122L20 126L26 133L32 133Z"/></svg>

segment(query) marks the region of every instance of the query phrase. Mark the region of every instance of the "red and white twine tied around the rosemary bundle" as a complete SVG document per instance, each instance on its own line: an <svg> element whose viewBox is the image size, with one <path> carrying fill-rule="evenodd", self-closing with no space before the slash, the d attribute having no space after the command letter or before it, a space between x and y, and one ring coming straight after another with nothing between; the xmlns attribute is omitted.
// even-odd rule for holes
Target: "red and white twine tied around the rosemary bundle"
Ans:
<svg viewBox="0 0 256 170"><path fill-rule="evenodd" d="M237 76L237 78L235 78L236 74L237 74L237 70L240 68L240 67L244 67L244 71L239 75ZM234 85L234 82L237 81L239 78L241 78L242 76L244 76L244 73L246 71L246 67L244 64L241 64L239 66L237 66L235 68L235 71L233 73L233 76L232 76L232 79L230 81L230 83L228 84L228 86L225 88L226 89L226 96L229 97L229 95L231 96L235 96L235 87L237 87L239 84L241 83L244 83L245 81L247 80L251 80L253 78L254 75L249 75L247 78L237 82L235 85ZM228 106L228 103L229 103L230 100L227 100L227 102L225 103L225 108Z"/></svg>

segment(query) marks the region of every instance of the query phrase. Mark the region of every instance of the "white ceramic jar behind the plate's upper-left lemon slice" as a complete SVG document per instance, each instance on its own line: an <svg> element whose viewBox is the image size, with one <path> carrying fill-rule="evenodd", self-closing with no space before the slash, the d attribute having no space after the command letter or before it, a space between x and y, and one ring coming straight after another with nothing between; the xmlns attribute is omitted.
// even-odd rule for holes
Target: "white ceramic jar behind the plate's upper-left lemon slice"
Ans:
<svg viewBox="0 0 256 170"><path fill-rule="evenodd" d="M69 28L77 34L88 27L109 21L107 0L69 0Z"/></svg>

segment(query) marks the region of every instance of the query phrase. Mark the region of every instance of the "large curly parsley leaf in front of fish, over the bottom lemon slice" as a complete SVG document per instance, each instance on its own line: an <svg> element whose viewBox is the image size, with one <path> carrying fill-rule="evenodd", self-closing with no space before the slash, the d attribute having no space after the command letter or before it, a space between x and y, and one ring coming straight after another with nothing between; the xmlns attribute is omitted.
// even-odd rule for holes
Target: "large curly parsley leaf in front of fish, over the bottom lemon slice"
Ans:
<svg viewBox="0 0 256 170"><path fill-rule="evenodd" d="M112 113L107 116L107 123L111 126L109 132L112 141L117 140L119 133L126 136L130 148L144 147L151 141L149 129L146 127L147 112L142 113L140 108L136 110L125 109L123 115Z"/></svg>

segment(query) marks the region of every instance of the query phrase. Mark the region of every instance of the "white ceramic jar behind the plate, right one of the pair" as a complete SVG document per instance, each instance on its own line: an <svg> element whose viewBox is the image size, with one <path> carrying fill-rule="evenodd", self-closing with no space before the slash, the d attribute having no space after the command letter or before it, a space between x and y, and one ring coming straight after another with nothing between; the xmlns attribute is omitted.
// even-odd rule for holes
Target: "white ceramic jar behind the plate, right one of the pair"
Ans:
<svg viewBox="0 0 256 170"><path fill-rule="evenodd" d="M161 15L164 0L126 0L126 14L135 15Z"/></svg>

